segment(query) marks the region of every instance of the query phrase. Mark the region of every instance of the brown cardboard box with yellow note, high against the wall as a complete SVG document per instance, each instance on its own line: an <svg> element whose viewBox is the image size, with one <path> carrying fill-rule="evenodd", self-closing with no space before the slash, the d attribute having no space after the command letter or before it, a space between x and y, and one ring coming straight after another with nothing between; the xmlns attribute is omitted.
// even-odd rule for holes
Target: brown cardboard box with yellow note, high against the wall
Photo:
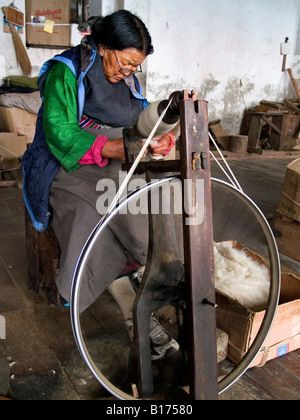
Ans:
<svg viewBox="0 0 300 420"><path fill-rule="evenodd" d="M70 0L26 0L26 44L70 46Z"/></svg>

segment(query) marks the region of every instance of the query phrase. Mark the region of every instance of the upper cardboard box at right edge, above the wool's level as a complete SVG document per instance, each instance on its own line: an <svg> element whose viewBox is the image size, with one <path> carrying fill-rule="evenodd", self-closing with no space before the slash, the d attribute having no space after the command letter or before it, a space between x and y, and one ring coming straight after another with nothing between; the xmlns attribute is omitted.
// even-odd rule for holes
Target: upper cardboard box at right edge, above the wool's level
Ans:
<svg viewBox="0 0 300 420"><path fill-rule="evenodd" d="M300 222L300 158L287 165L278 211Z"/></svg>

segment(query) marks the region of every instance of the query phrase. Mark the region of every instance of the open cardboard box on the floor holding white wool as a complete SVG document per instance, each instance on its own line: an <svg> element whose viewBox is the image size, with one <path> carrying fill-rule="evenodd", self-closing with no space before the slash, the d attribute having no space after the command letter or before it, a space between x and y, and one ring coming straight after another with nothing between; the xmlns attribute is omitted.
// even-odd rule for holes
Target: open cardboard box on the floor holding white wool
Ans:
<svg viewBox="0 0 300 420"><path fill-rule="evenodd" d="M239 244L234 246L241 248ZM246 250L248 255L269 266L268 260ZM300 276L282 267L282 284L278 309L267 340L251 366L300 348ZM228 357L238 363L260 329L265 311L254 312L230 296L217 291L217 326L229 335Z"/></svg>

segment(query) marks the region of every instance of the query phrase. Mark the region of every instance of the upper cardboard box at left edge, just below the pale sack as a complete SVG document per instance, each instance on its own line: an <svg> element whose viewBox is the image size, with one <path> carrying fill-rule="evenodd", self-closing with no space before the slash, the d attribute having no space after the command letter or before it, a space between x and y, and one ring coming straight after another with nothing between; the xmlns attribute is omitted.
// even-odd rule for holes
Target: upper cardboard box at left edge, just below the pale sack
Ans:
<svg viewBox="0 0 300 420"><path fill-rule="evenodd" d="M0 106L0 131L23 134L28 143L33 142L36 119L37 115L25 109Z"/></svg>

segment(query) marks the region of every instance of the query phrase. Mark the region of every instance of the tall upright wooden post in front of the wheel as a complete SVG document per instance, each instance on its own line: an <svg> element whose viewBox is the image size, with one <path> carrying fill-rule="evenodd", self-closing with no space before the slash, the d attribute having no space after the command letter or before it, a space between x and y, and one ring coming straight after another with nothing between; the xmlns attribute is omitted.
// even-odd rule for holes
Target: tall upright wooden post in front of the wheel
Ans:
<svg viewBox="0 0 300 420"><path fill-rule="evenodd" d="M190 397L218 398L213 223L206 101L181 101L181 176Z"/></svg>

